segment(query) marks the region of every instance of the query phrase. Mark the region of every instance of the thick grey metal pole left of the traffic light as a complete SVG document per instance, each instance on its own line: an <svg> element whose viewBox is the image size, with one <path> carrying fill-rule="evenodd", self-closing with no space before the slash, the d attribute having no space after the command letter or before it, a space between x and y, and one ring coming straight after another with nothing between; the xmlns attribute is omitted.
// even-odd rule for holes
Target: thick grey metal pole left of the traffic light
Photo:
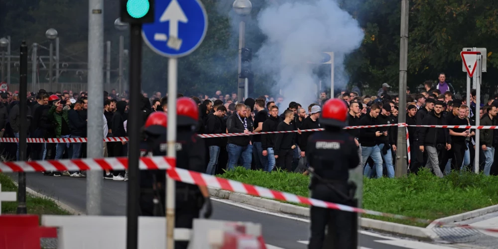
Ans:
<svg viewBox="0 0 498 249"><path fill-rule="evenodd" d="M88 132L87 156L104 156L104 0L88 5ZM87 171L87 215L101 214L102 170Z"/></svg>

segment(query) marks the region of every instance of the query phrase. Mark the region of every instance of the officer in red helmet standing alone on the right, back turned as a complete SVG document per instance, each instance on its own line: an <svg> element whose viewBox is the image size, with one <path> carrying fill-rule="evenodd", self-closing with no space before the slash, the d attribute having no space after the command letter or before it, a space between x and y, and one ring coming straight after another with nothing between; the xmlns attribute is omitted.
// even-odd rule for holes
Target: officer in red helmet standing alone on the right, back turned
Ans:
<svg viewBox="0 0 498 249"><path fill-rule="evenodd" d="M322 107L319 120L324 131L308 138L307 157L310 164L311 198L355 205L355 187L348 183L349 170L358 166L360 158L355 138L343 128L348 121L348 108L340 99L330 99ZM356 249L357 216L312 206L309 249ZM325 227L329 231L325 236Z"/></svg>

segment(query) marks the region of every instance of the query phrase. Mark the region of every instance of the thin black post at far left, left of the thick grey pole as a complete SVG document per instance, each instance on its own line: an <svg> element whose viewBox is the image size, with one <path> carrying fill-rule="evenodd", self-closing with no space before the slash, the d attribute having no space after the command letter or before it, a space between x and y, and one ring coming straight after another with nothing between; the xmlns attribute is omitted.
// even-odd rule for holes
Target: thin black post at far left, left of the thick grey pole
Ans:
<svg viewBox="0 0 498 249"><path fill-rule="evenodd" d="M26 42L22 41L19 57L19 117L21 118L19 129L19 158L17 160L26 161L26 138L27 138L27 96L28 89L28 48ZM26 173L19 172L17 193L17 214L26 214Z"/></svg>

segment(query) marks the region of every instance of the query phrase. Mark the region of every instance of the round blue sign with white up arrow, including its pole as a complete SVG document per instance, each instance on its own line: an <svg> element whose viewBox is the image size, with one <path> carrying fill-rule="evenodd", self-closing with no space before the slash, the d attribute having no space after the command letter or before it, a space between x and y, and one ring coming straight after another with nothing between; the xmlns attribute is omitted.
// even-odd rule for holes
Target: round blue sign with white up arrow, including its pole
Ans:
<svg viewBox="0 0 498 249"><path fill-rule="evenodd" d="M208 30L208 15L200 0L155 0L154 23L144 24L145 44L168 57L167 156L176 157L177 58L192 53ZM166 174L166 246L174 248L175 181Z"/></svg>

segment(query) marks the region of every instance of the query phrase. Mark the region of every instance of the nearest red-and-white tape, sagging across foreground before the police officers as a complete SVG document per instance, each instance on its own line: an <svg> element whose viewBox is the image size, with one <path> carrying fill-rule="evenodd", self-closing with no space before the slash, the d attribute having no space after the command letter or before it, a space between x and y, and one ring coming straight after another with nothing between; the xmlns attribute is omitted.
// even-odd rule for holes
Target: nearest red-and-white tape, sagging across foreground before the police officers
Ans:
<svg viewBox="0 0 498 249"><path fill-rule="evenodd" d="M413 218L404 215L382 213L373 210L361 209L337 203L326 202L318 199L299 196L291 193L280 192L268 188L254 186L234 180L224 179L204 173L189 171L177 168L176 160L171 157L152 156L140 157L138 167L142 170L161 169L167 170L168 175L176 181L190 183L200 186L208 186L231 192L249 194L257 197L270 198L275 200L312 205L316 207L341 210L346 212L362 213L374 216L389 217L401 220L409 220L418 223L431 223L432 220ZM86 158L76 160L46 160L46 161L26 161L26 162L0 162L1 172L33 172L33 171L79 171L79 170L124 170L128 168L128 158L107 157L107 158ZM461 227L466 229L485 230L498 232L498 229L479 228L472 226L446 225L436 223L437 226Z"/></svg>

